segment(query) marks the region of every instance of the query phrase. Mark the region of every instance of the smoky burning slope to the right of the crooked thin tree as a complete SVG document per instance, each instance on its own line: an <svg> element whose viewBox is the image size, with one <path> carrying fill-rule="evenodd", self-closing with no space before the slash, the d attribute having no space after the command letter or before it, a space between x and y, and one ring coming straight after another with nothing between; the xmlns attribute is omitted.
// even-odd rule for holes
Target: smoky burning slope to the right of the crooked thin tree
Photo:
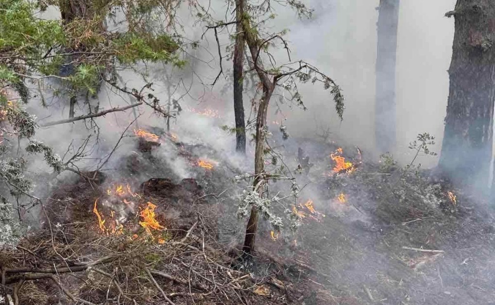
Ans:
<svg viewBox="0 0 495 305"><path fill-rule="evenodd" d="M374 163L356 148L329 146L307 158L315 161L298 177L310 183L296 204L302 226L275 236L265 227L258 245L275 263L311 266L321 304L491 302L495 229L486 204L390 156Z"/></svg>

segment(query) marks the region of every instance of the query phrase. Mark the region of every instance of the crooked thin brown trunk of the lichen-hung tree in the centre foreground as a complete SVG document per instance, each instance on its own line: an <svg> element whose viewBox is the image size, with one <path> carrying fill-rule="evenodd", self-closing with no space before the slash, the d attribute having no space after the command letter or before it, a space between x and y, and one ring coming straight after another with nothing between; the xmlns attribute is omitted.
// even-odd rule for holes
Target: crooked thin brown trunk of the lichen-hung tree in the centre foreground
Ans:
<svg viewBox="0 0 495 305"><path fill-rule="evenodd" d="M266 133L267 133L267 125L266 125L266 114L268 112L268 105L270 103L270 99L272 97L273 91L275 90L275 80L272 81L270 76L264 72L262 64L260 63L260 59L258 58L258 40L250 31L249 21L243 19L242 21L243 31L246 37L246 43L251 53L251 57L253 58L253 67L256 70L256 73L261 81L263 86L263 97L259 102L258 113L256 116L256 147L254 151L254 183L253 188L257 190L262 196L263 185L265 183L264 179L264 170L265 163L263 161L264 150L265 150L265 141L266 141ZM256 208L251 208L251 214L249 215L249 220L247 221L246 227L246 235L244 240L244 248L243 251L245 254L250 254L254 249L254 242L256 238L256 230L258 228L258 219L259 213Z"/></svg>

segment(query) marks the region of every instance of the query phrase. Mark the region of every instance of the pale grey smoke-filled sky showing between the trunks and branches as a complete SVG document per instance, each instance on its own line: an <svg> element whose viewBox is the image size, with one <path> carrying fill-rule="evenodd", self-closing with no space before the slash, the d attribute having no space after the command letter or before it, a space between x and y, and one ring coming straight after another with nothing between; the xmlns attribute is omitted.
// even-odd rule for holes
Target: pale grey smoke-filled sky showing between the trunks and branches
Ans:
<svg viewBox="0 0 495 305"><path fill-rule="evenodd" d="M313 136L322 129L330 127L336 141L347 145L356 145L369 152L373 152L374 146L374 102L375 102L375 61L376 61L376 22L378 20L379 0L308 0L307 4L315 9L313 19L297 20L293 11L285 8L277 10L278 18L273 26L274 30L289 28L287 37L290 42L292 59L303 59L317 66L322 72L332 77L336 83L342 86L346 98L346 111L344 121L341 123L334 110L334 103L328 92L321 87L303 86L301 93L303 101L308 107L307 111L298 108L284 110L287 116L285 124L293 136ZM455 0L402 0L399 10L398 42L397 42L397 65L396 65L396 102L397 102L397 146L395 156L400 161L408 161L410 156L407 145L414 140L418 133L429 132L437 137L437 146L434 151L440 152L442 134L444 129L444 117L446 113L446 101L448 96L448 74L446 70L450 63L451 46L453 39L453 19L444 17L446 11L454 7ZM212 2L215 12L223 12L226 8L224 1ZM50 12L57 15L57 12ZM223 13L221 14L223 15ZM219 15L219 17L221 17ZM183 24L187 25L186 32L194 39L199 39L204 32L200 25L190 27L188 18L183 18ZM226 32L223 36L222 50L229 44ZM191 70L195 70L203 77L207 84L218 72L218 57L214 36L210 32L202 40L203 48L194 51L194 55L207 62L191 60L192 66L181 72L186 80L186 85L191 84ZM208 50L208 51L205 51ZM287 61L285 51L276 52L278 63ZM224 60L224 70L231 73L229 60ZM127 81L135 83L133 74L123 75ZM153 77L150 77L152 79ZM177 75L172 77L178 80ZM233 125L232 114L232 90L230 87L224 93L220 90L224 86L223 78L212 89L195 83L198 79L193 77L194 86L190 91L191 96L186 96L184 105L195 105L203 92L213 90L213 94L203 97L204 103L212 103L211 107L225 107L224 123ZM167 100L166 87L162 85L163 80L153 79L156 85L155 94L161 101ZM179 91L175 97L183 92ZM108 100L110 97L110 100ZM100 94L100 109L129 103L128 99L116 98L103 92ZM222 100L212 102L212 100ZM107 100L107 101L105 101ZM126 101L127 100L127 101ZM224 104L225 106L222 106ZM246 110L249 112L250 101L246 99ZM76 108L76 111L78 109ZM82 111L82 110L81 110ZM272 107L270 113L274 113ZM39 117L47 115L47 111L39 112ZM45 113L43 113L45 112ZM133 118L130 111L126 113L129 121ZM60 113L49 111L51 121L58 119L58 115L67 117L68 106ZM82 113L76 113L80 115ZM112 115L113 116L113 115ZM164 124L162 119L150 120L149 114L145 115L146 122ZM107 116L108 118L109 116ZM125 128L125 123L119 123L114 119L111 126L105 126L106 131L115 128L120 133ZM122 117L118 114L118 117ZM187 116L179 117L179 126L192 128ZM194 120L194 119L193 119ZM103 119L99 119L103 124ZM197 121L198 122L198 121ZM185 123L185 125L184 125ZM199 122L198 122L199 123ZM218 122L217 122L218 123ZM105 123L106 124L106 123ZM208 130L204 127L207 122L201 122L198 131ZM120 126L122 125L122 126ZM218 125L218 124L217 124ZM47 132L40 132L42 139L53 145L60 138L72 138L74 131L67 125L62 128L54 127ZM163 126L162 126L163 127ZM218 127L218 126L211 126ZM50 139L55 134L53 130L58 129L57 139ZM77 131L77 129L76 129ZM77 133L77 132L76 132ZM208 133L211 134L211 133ZM72 136L71 136L72 135ZM112 135L113 137L114 135ZM218 139L215 134L214 139ZM222 145L232 145L232 141L223 141ZM66 147L65 143L61 147ZM424 158L421 162L425 165L436 165L433 157Z"/></svg>

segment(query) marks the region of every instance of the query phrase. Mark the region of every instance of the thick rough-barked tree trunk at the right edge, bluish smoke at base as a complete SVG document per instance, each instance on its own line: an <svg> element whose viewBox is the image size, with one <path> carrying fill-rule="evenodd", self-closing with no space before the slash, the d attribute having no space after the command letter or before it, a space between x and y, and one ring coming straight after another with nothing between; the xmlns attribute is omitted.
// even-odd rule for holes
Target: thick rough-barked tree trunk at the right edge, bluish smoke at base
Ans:
<svg viewBox="0 0 495 305"><path fill-rule="evenodd" d="M456 183L486 189L495 101L495 2L457 0L450 87L439 167Z"/></svg>

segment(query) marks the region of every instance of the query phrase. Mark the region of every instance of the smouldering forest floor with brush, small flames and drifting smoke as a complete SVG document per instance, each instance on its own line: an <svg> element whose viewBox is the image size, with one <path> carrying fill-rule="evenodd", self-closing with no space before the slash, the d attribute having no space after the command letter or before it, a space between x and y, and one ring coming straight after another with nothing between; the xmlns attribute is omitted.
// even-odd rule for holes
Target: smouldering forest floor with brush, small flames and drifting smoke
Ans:
<svg viewBox="0 0 495 305"><path fill-rule="evenodd" d="M336 173L335 144L294 140L316 160L298 177L302 226L273 239L262 221L247 264L242 172L153 132L166 143L140 140L118 174L60 183L42 227L0 254L12 304L495 304L494 212L428 171L344 148L353 165Z"/></svg>

